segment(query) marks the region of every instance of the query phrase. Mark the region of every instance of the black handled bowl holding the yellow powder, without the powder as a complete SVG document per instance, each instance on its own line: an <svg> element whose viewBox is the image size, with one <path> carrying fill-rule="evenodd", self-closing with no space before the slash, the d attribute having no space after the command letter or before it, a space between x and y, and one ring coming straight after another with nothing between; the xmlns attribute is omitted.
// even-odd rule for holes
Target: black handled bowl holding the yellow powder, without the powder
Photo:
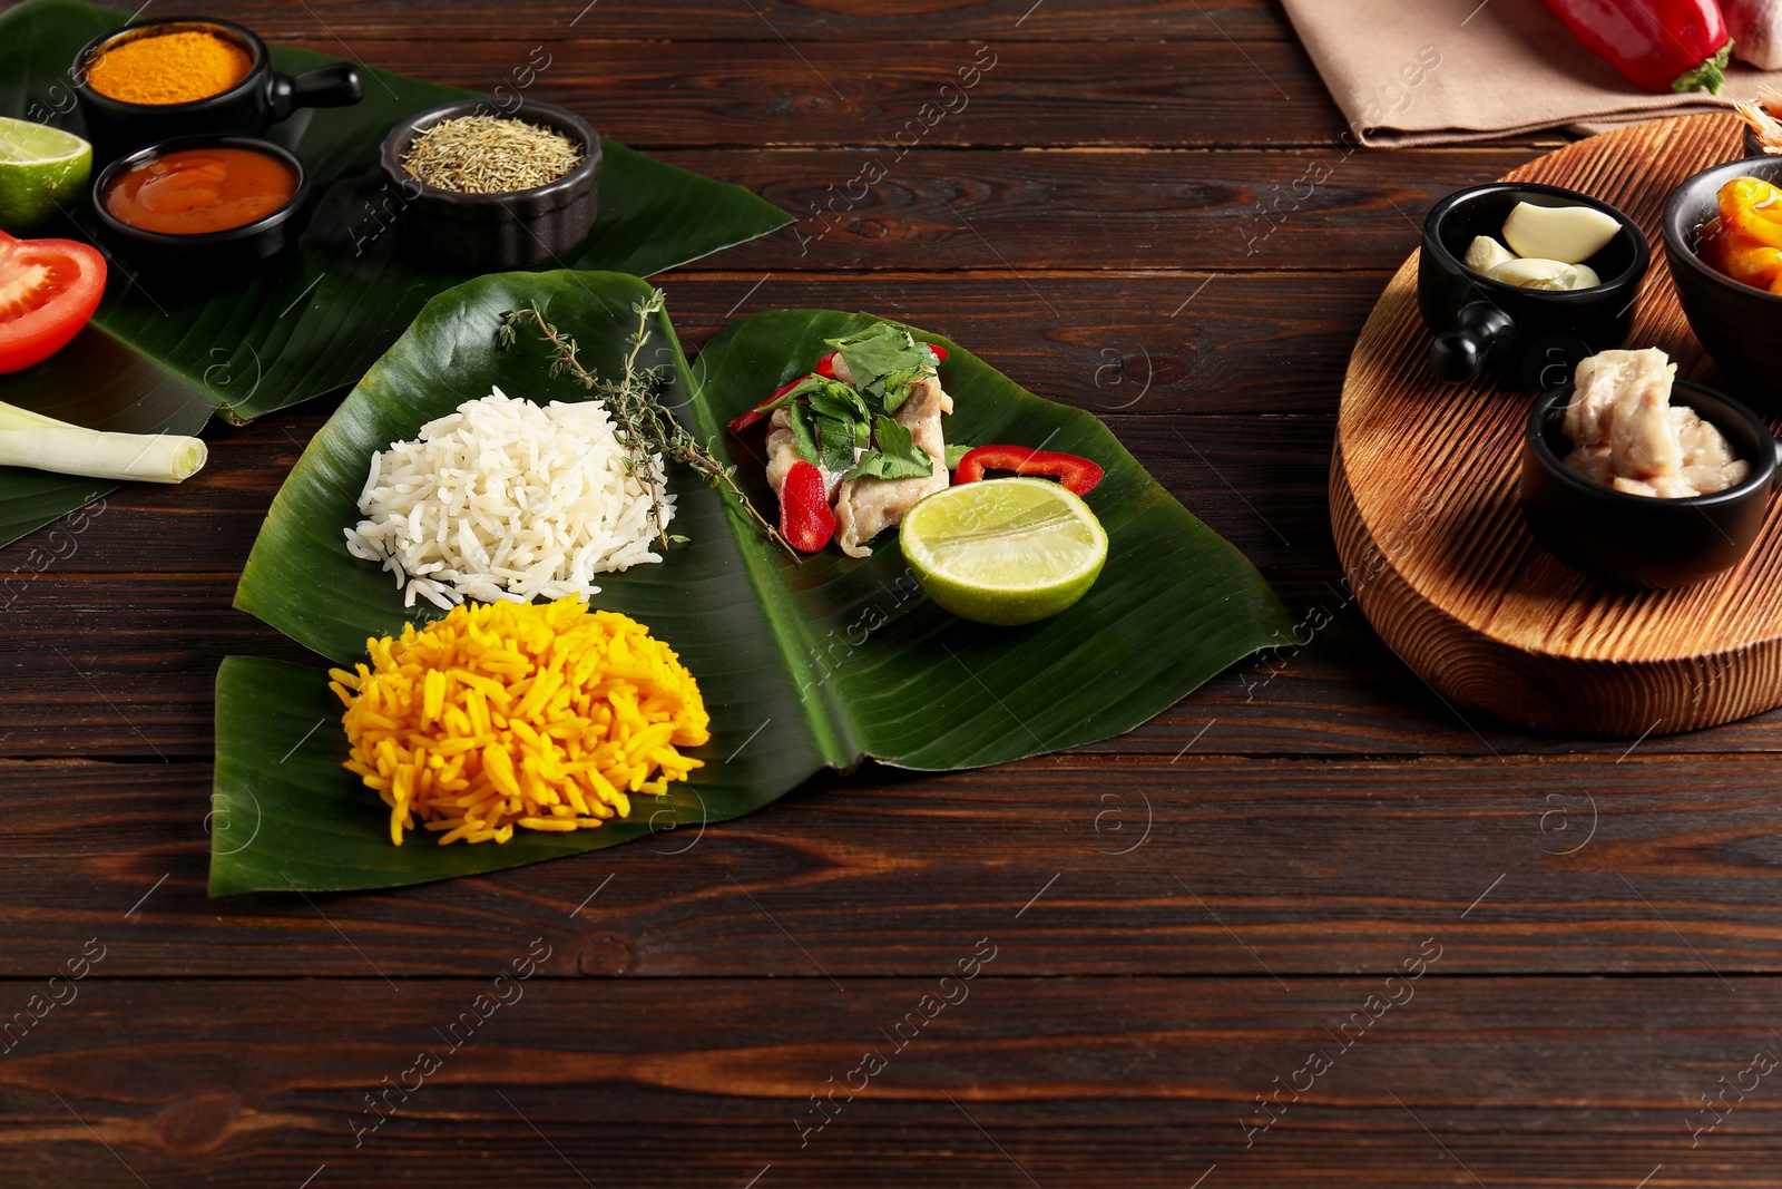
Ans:
<svg viewBox="0 0 1782 1189"><path fill-rule="evenodd" d="M210 32L246 50L253 62L248 77L228 91L191 103L125 103L87 84L87 70L107 50L137 37L187 30ZM241 25L208 16L168 16L114 29L80 48L71 78L100 162L176 135L264 135L299 107L347 107L365 93L358 68L349 62L321 66L296 78L282 75L273 70L264 41Z"/></svg>

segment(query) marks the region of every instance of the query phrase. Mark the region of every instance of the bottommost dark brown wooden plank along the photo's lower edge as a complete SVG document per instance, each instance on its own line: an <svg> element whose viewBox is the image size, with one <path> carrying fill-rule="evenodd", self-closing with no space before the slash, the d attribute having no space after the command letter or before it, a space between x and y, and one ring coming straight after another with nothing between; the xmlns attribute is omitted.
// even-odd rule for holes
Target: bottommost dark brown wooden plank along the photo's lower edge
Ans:
<svg viewBox="0 0 1782 1189"><path fill-rule="evenodd" d="M1775 979L1445 979L1442 936L1392 989L1001 979L1023 925L960 920L927 977L845 991L529 980L499 1005L494 968L399 991L89 979L0 1062L0 1171L20 1189L1775 1184L1753 1073L1718 1130L1695 1148L1689 1130L1714 1118L1691 1114L1700 1095L1775 1054ZM973 968L980 938L994 957ZM943 984L959 961L977 979ZM453 1050L460 1013L478 1027Z"/></svg>

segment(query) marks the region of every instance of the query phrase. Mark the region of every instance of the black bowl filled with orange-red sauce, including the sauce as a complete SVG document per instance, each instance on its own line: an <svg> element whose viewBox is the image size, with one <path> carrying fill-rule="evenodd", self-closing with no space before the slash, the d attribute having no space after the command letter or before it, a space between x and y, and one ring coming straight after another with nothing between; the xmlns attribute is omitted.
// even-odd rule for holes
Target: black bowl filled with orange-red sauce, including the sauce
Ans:
<svg viewBox="0 0 1782 1189"><path fill-rule="evenodd" d="M207 285L292 246L310 184L289 150L246 135L189 135L109 164L93 185L100 235L119 257Z"/></svg>

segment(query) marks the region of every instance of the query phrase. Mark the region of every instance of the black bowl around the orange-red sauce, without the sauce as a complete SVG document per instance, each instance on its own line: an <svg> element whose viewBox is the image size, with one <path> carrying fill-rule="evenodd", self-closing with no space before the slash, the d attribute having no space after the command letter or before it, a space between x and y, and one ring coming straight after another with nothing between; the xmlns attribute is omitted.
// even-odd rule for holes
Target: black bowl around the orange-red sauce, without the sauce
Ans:
<svg viewBox="0 0 1782 1189"><path fill-rule="evenodd" d="M118 176L146 160L185 148L246 148L278 157L298 171L298 189L283 207L269 216L242 226L198 235L146 232L105 209L105 191ZM310 178L303 162L271 141L248 135L182 135L150 144L109 164L93 185L93 210L100 225L100 239L130 264L168 276L182 287L203 287L217 276L239 276L260 260L298 242L310 216L308 198Z"/></svg>

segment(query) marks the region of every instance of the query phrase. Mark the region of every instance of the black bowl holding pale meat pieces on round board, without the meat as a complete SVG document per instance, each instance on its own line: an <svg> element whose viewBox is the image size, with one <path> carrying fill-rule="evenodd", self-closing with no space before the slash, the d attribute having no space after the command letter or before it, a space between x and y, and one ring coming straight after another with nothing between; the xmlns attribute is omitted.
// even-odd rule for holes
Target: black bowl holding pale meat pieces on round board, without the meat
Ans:
<svg viewBox="0 0 1782 1189"><path fill-rule="evenodd" d="M1631 496L1566 471L1563 426L1572 385L1534 401L1522 442L1522 512L1534 538L1574 569L1632 586L1688 586L1730 569L1764 526L1782 442L1745 405L1679 380L1675 405L1688 405L1727 435L1752 463L1743 483L1695 499Z"/></svg>

